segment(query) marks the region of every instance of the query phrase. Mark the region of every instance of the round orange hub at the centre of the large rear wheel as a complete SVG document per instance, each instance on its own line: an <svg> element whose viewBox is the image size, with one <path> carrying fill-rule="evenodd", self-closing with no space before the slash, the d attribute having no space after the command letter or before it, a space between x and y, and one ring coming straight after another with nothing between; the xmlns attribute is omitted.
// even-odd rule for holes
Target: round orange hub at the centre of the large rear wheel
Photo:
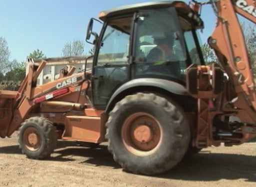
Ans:
<svg viewBox="0 0 256 187"><path fill-rule="evenodd" d="M146 125L140 125L134 130L134 138L136 141L141 143L148 143L152 139L152 131Z"/></svg>

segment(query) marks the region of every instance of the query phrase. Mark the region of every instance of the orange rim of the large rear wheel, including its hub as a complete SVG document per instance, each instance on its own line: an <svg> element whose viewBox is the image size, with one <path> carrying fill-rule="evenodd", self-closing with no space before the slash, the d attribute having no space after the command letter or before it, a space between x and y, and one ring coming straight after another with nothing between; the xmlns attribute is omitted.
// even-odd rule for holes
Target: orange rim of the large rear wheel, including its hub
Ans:
<svg viewBox="0 0 256 187"><path fill-rule="evenodd" d="M130 115L121 128L121 137L125 148L138 156L152 154L158 148L161 136L159 122L144 112Z"/></svg>

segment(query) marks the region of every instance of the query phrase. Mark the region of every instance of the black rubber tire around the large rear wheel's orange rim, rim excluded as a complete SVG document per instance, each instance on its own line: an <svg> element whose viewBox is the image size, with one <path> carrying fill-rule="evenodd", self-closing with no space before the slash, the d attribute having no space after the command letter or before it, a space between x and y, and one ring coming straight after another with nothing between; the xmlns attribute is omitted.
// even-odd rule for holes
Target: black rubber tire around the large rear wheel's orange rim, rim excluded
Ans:
<svg viewBox="0 0 256 187"><path fill-rule="evenodd" d="M172 168L182 159L187 149L188 141L180 141L176 134L190 135L188 132L189 126L186 119L183 117L184 115L180 113L180 110L169 102L167 102L167 104L172 105L171 107L174 110L167 112L163 107L153 101L143 99L134 100L119 106L119 109L112 114L112 125L109 125L108 132L109 137L111 137L110 141L115 142L111 143L111 146L115 154L114 158L116 157L115 160L117 160L119 164L125 162L126 168L128 169L133 170L133 168L138 168L138 173L143 173L141 171L151 170L153 166L154 168L158 168L157 173L159 173L161 172L161 169L159 169L160 167L163 167L162 170L165 170L165 168ZM121 138L121 128L123 122L128 116L137 112L145 112L153 116L159 122L162 134L159 146L156 148L157 150L155 150L152 154L143 157L130 153L123 145ZM179 122L173 120L173 115L171 113L175 113L173 115L179 116ZM180 128L180 126L183 127ZM189 135L188 137L185 137L185 139L189 140ZM185 151L184 149L179 149L180 147L186 147ZM180 157L180 155L182 156ZM166 163L166 160L174 160L175 162ZM164 166L166 164L168 166ZM133 172L135 170L136 169L134 169Z"/></svg>

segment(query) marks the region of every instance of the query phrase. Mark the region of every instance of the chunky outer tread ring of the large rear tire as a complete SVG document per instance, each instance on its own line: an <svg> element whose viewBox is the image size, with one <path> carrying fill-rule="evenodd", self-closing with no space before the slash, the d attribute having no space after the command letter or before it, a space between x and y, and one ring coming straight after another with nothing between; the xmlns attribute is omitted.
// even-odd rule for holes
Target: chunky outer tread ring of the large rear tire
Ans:
<svg viewBox="0 0 256 187"><path fill-rule="evenodd" d="M177 163L178 163L183 158L185 151L179 151L179 152L174 152L174 151L171 152L170 151L169 156L166 157L164 160L162 160L159 163L153 164L152 167L150 167L147 170L144 170L144 169L137 168L137 167L131 167L129 163L122 161L121 159L119 159L116 156L113 142L111 141L111 137L109 134L109 129L111 129L111 126L114 125L112 123L112 119L116 115L118 115L117 112L120 110L120 107L128 104L130 101L134 102L134 101L141 101L141 100L152 101L156 105L162 107L166 113L168 113L173 119L175 119L174 122L176 124L174 125L174 130L173 130L173 132L175 133L174 141L179 142L179 143L176 145L177 147L175 147L174 149L185 150L185 151L187 150L189 137L187 137L187 138L184 137L185 135L187 135L187 130L185 127L187 124L182 123L182 121L185 120L183 117L184 114L180 113L180 108L177 108L174 104L170 103L165 98L159 97L152 93L149 93L149 94L137 93L134 95L128 95L125 98L123 98L121 101L116 103L113 110L109 113L108 121L105 124L105 127L106 127L105 138L108 141L108 151L113 155L114 161L117 162L118 164L120 164L125 171L129 171L129 172L132 172L135 174L154 175L154 174L165 172L165 171L173 168L174 166L171 166L169 164L170 160L175 159L175 160L177 160ZM190 135L190 132L189 132L189 135ZM181 141L181 143L180 143L180 141ZM184 145L184 146L182 146L182 145Z"/></svg>

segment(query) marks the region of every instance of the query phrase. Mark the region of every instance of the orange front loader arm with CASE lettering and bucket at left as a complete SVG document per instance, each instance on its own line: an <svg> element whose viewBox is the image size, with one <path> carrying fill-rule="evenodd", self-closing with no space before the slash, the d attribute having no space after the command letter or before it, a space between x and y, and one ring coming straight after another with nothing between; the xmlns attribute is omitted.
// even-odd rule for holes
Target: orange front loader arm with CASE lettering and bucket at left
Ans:
<svg viewBox="0 0 256 187"><path fill-rule="evenodd" d="M18 91L0 91L1 138L9 137L17 130L33 106L39 105L42 101L75 92L75 89L70 87L80 86L85 81L84 72L72 75L74 68L71 68L64 77L36 86L37 77L45 64L46 61L42 60L38 66L29 65L28 74Z"/></svg>

